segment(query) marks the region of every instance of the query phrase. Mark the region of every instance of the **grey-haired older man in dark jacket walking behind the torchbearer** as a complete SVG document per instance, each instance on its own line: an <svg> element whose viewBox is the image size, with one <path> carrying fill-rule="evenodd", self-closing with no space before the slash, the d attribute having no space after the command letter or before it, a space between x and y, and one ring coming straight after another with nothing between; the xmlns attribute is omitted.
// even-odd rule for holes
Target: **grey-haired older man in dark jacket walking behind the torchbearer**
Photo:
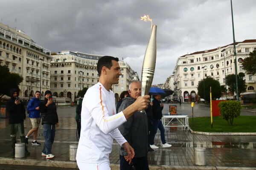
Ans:
<svg viewBox="0 0 256 170"><path fill-rule="evenodd" d="M122 100L118 112L124 110L141 96L141 83L132 81L129 85L129 95ZM148 120L145 113L136 111L130 119L118 127L122 136L134 148L135 156L132 163L136 170L149 170L148 168ZM131 164L125 160L128 154L119 146L120 170L130 170Z"/></svg>

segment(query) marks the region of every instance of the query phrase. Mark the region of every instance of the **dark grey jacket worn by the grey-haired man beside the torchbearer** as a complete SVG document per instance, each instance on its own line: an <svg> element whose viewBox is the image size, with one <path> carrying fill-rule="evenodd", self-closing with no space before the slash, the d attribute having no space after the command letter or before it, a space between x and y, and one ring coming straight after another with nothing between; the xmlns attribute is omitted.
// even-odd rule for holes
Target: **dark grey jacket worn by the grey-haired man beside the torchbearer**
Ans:
<svg viewBox="0 0 256 170"><path fill-rule="evenodd" d="M118 112L123 111L129 105L133 104L135 99L125 97ZM124 124L118 127L122 136L134 148L135 158L145 157L148 153L148 120L145 113L136 111ZM119 146L119 155L127 156L127 152L122 146Z"/></svg>

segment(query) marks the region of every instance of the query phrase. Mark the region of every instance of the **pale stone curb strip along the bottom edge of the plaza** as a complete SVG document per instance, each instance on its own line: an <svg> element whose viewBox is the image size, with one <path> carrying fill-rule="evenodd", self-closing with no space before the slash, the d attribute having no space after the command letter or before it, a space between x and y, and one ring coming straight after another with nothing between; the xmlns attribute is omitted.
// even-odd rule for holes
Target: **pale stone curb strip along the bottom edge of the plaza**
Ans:
<svg viewBox="0 0 256 170"><path fill-rule="evenodd" d="M1 164L78 168L76 161L35 161L33 159L0 158ZM47 163L46 163L47 162ZM110 164L111 170L119 170L119 164ZM256 170L256 167L170 166L149 165L150 170Z"/></svg>

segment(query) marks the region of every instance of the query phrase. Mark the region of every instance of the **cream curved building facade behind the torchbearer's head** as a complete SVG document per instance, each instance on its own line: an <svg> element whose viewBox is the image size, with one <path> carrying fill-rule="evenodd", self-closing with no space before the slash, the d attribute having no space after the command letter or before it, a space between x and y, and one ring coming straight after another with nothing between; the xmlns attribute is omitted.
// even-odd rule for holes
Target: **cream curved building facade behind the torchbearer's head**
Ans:
<svg viewBox="0 0 256 170"><path fill-rule="evenodd" d="M68 97L74 101L79 97L79 90L90 88L99 82L97 62L101 57L73 51L61 51L60 54L52 55L50 70L53 96ZM138 79L137 73L127 62L119 60L119 65L122 75L119 77L119 84L112 87L116 99L122 91L128 90L132 79Z"/></svg>

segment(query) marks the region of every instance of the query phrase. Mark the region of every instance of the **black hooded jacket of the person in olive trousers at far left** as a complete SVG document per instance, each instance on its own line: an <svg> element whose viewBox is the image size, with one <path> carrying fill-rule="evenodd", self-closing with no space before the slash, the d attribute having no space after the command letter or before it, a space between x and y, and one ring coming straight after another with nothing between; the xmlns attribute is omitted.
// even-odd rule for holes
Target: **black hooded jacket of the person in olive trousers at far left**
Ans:
<svg viewBox="0 0 256 170"><path fill-rule="evenodd" d="M12 89L10 91L11 99L6 102L6 111L9 113L9 124L20 123L26 119L26 110L23 103L20 101L19 105L15 104L14 92L17 92L17 96L19 96L19 91Z"/></svg>

